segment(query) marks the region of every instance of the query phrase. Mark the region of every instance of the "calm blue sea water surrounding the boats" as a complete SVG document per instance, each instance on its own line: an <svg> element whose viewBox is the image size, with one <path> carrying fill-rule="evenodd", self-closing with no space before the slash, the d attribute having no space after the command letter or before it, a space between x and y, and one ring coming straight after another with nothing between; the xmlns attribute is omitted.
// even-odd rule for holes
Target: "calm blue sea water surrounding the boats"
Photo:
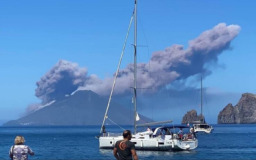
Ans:
<svg viewBox="0 0 256 160"><path fill-rule="evenodd" d="M131 129L129 126L124 126ZM139 159L256 159L256 125L213 125L214 133L198 134L192 151L137 151ZM9 159L17 135L35 152L29 159L114 159L112 150L99 149L99 126L0 127L0 159ZM107 132L121 132L106 126ZM55 139L54 139L55 138Z"/></svg>

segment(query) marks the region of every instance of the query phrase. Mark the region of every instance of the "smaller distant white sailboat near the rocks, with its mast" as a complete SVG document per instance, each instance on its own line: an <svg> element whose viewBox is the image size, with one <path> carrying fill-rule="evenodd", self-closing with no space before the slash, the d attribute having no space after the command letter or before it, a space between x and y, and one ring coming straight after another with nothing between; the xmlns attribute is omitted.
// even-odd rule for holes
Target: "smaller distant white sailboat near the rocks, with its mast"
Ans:
<svg viewBox="0 0 256 160"><path fill-rule="evenodd" d="M190 132L195 133L211 133L213 131L213 127L210 126L205 122L204 115L203 115L203 83L202 83L202 77L201 77L201 117L200 121L193 122L194 131L192 128L190 128Z"/></svg>

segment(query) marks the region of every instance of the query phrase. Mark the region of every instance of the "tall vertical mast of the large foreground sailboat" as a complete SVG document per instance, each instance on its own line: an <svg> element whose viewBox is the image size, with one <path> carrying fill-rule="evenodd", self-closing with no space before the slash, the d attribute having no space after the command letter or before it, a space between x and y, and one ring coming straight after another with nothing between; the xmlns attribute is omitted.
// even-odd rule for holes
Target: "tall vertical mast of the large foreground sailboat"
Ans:
<svg viewBox="0 0 256 160"><path fill-rule="evenodd" d="M137 133L137 122L136 122L136 116L137 116L137 111L136 111L136 47L137 45L137 0L135 0L135 9L134 9L134 133Z"/></svg>

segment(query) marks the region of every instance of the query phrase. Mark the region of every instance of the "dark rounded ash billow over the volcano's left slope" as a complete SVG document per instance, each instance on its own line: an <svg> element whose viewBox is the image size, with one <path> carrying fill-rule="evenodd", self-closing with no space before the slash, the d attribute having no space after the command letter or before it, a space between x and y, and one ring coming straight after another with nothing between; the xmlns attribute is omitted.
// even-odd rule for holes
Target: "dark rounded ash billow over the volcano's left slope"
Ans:
<svg viewBox="0 0 256 160"><path fill-rule="evenodd" d="M36 82L35 96L41 99L42 105L52 100L70 95L77 87L84 85L87 69L77 63L59 60L50 71Z"/></svg>

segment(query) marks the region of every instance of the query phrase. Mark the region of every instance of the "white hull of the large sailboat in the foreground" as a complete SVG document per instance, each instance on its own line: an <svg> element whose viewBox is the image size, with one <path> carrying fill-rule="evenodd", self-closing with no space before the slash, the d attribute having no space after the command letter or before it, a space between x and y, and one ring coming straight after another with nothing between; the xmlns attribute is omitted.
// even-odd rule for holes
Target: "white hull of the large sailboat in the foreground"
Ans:
<svg viewBox="0 0 256 160"><path fill-rule="evenodd" d="M100 137L100 148L113 148L117 141L123 137ZM144 138L131 139L137 150L191 150L195 149L198 140L182 141L178 139L161 140L160 137L145 140ZM174 144L173 144L174 143Z"/></svg>

